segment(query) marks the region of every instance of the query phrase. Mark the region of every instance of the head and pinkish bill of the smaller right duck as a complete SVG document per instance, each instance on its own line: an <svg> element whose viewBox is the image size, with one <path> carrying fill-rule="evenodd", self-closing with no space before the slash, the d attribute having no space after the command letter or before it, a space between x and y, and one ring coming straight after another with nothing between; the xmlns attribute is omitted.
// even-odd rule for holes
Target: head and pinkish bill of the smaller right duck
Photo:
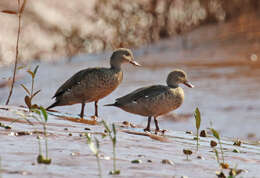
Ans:
<svg viewBox="0 0 260 178"><path fill-rule="evenodd" d="M188 81L187 74L180 69L175 69L169 73L166 82L169 87L178 87L181 83L190 88L194 87L194 85Z"/></svg>

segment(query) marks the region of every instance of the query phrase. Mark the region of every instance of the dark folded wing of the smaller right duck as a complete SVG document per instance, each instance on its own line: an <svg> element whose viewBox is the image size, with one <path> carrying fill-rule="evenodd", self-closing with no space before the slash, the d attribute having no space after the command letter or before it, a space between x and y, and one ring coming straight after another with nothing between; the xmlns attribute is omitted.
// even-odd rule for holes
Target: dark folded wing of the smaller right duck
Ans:
<svg viewBox="0 0 260 178"><path fill-rule="evenodd" d="M139 99L155 97L166 91L168 91L168 87L163 85L152 85L149 87L139 88L123 97L117 98L116 104L124 105Z"/></svg>

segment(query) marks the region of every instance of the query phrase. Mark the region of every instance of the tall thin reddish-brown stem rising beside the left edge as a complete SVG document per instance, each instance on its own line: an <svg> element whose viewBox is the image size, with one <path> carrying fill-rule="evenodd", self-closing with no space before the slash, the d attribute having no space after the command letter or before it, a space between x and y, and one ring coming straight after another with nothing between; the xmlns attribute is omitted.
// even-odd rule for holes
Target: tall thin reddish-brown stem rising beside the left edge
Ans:
<svg viewBox="0 0 260 178"><path fill-rule="evenodd" d="M18 55L19 55L19 40L20 40L20 33L21 33L22 13L20 13L20 0L17 0L17 2L18 2L18 30L17 30L17 40L16 40L14 72L13 72L12 85L11 85L10 92L9 92L9 95L8 95L8 98L7 98L5 105L9 104L10 98L11 98L12 93L13 93L15 76L16 76L16 68L17 68L17 63L18 63Z"/></svg>

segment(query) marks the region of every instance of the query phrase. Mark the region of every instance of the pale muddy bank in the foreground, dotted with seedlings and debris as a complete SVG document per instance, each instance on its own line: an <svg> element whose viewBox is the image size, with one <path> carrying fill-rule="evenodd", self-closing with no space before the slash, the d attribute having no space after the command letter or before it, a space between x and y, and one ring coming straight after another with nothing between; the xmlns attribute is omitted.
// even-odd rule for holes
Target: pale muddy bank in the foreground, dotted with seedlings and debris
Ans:
<svg viewBox="0 0 260 178"><path fill-rule="evenodd" d="M13 112L17 109L19 108L11 108L8 112L1 110L0 121L6 123L3 116L15 117ZM40 130L40 126L15 123L12 124L11 130L0 129L2 176L98 177L95 157L86 144L86 138L82 135L86 132L102 133L104 127L49 116L48 147L52 164L43 166L36 163L38 143L35 133L39 133L36 130ZM10 124L10 122L7 123ZM121 174L116 177L214 177L216 171L220 170L212 148L209 146L210 140L214 140L212 137L201 138L199 152L196 152L194 136L184 131L168 131L159 141L154 138L161 136L128 134L143 133L141 128L122 128L120 127L122 123L116 122L116 124L118 126L117 167L121 171ZM86 128L88 129L86 130ZM24 130L33 133L15 136L14 133ZM114 177L108 175L112 169L112 143L108 138L102 139L98 134L96 137L101 144L103 177ZM232 139L222 139L226 162L231 167L237 165L238 169L243 169L241 176L255 177L258 175L259 144L243 141L242 145L238 147L233 145L233 141ZM182 153L183 149L193 151L189 161ZM233 152L234 149L239 150L239 153ZM202 159L198 159L197 156L201 156ZM164 159L170 160L172 163L163 164ZM141 163L133 164L132 160L141 160Z"/></svg>

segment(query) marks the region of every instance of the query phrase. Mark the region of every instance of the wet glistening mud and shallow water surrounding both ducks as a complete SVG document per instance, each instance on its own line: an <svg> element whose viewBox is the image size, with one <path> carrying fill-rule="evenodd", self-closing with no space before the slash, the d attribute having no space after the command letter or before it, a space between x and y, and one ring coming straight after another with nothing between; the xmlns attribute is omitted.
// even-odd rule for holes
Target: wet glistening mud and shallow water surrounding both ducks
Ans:
<svg viewBox="0 0 260 178"><path fill-rule="evenodd" d="M214 177L219 170L214 153L210 152L209 140L202 139L198 154L205 160L191 156L192 161L185 161L183 148L192 149L196 145L192 135L185 131L195 131L193 111L199 107L202 113L202 129L212 126L220 131L227 141L224 144L225 156L231 166L248 170L246 177L257 177L260 165L260 62L259 39L260 34L253 31L252 24L248 23L247 30L234 29L229 32L235 22L221 26L201 27L184 36L179 36L158 44L135 50L136 60L143 67L135 68L124 65L124 80L119 88L111 95L99 102L100 117L108 123L116 122L120 125L129 121L138 126L130 131L142 132L147 118L125 113L117 108L103 107L138 87L151 84L165 84L167 74L174 68L187 71L190 81L196 86L193 89L183 86L185 101L181 108L160 117L162 129L169 130L166 138L169 142L160 142L147 136L132 135L119 132L118 135L118 167L121 175L117 177ZM251 25L251 26L250 26ZM256 27L260 25L257 24ZM249 33L250 32L250 33ZM250 36L251 34L251 36ZM253 36L252 36L253 34ZM220 40L221 39L221 40ZM60 61L56 63L39 63L35 89L42 92L34 99L34 103L48 106L56 89L72 74L85 67L108 66L111 53L100 55L81 55L73 58L71 63ZM253 55L253 56L252 56ZM255 56L258 56L255 60ZM33 63L32 66L35 66ZM1 68L3 77L10 76L10 68ZM25 92L19 84L30 85L30 78L19 71L21 78L17 82L12 105L24 105ZM0 101L6 99L8 88L0 89ZM79 105L57 107L61 113L70 113L76 116L80 112ZM94 104L87 104L87 116L94 114ZM10 111L1 110L0 122L10 125L6 118L16 118ZM80 133L103 131L101 126L71 122L55 116L50 116L48 132L49 153L53 159L50 166L32 165L36 163L37 139L36 135L9 136L11 132L32 131L40 129L26 123L13 123L11 130L0 128L2 140L0 156L2 158L3 177L97 177L95 157L90 152L86 138ZM153 126L153 125L152 125ZM68 131L64 131L68 128ZM69 132L72 136L68 136ZM233 153L235 146L232 141L240 138L249 144L238 149L241 153ZM252 140L247 141L247 140ZM254 143L254 145L252 144ZM19 151L18 151L19 150ZM105 156L112 156L112 144L106 138L101 141L101 150ZM141 155L138 157L138 155ZM141 159L142 164L132 164L131 160ZM147 160L152 160L148 163ZM162 159L170 159L174 165L164 165ZM102 160L103 175L112 169L112 160ZM16 172L18 171L18 172ZM20 172L19 172L20 171ZM21 172L25 171L25 172ZM105 176L106 175L106 176ZM243 176L243 175L242 175Z"/></svg>

